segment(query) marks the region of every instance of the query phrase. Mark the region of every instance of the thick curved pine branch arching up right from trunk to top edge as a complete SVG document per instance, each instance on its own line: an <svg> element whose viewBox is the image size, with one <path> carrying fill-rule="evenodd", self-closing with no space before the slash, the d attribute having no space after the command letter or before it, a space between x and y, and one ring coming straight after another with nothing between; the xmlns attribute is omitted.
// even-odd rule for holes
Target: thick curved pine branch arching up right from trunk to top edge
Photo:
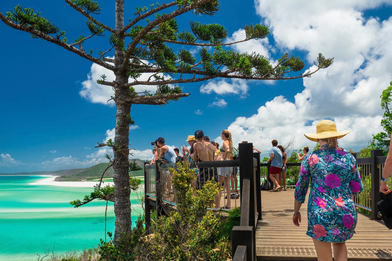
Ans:
<svg viewBox="0 0 392 261"><path fill-rule="evenodd" d="M132 43L130 44L129 48L127 49L127 51L125 53L124 63L122 63L121 67L119 68L119 72L124 73L127 70L128 65L129 65L130 56L132 55L137 44L154 27L156 27L158 24L160 24L162 22L168 21L168 20L170 20L174 17L177 17L183 13L186 13L186 12L189 12L189 11L195 9L195 8L198 8L199 6L204 5L204 4L208 3L209 1L211 1L211 0L200 0L199 2L194 3L192 5L183 7L181 9L177 9L173 13L162 15L162 16L158 17L157 19L155 19L154 21L150 22L148 25L146 25L146 27L144 27L143 30L141 30L141 32L133 39Z"/></svg>

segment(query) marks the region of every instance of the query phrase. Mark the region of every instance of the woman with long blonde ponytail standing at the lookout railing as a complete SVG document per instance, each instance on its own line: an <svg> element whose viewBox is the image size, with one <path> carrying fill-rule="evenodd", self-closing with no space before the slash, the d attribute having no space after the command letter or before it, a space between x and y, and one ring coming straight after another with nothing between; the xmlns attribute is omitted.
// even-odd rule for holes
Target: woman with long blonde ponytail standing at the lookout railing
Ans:
<svg viewBox="0 0 392 261"><path fill-rule="evenodd" d="M230 157L233 156L233 141L231 139L231 133L224 129L222 133L220 133L220 138L223 140L222 147L220 147L220 154L217 158L218 161L229 161ZM232 168L224 167L219 170L219 184L225 184L225 190L227 195L227 201L224 208L229 209L231 207L230 204L230 174L232 173ZM222 196L222 191L219 191L219 199ZM235 198L235 194L234 194Z"/></svg>

